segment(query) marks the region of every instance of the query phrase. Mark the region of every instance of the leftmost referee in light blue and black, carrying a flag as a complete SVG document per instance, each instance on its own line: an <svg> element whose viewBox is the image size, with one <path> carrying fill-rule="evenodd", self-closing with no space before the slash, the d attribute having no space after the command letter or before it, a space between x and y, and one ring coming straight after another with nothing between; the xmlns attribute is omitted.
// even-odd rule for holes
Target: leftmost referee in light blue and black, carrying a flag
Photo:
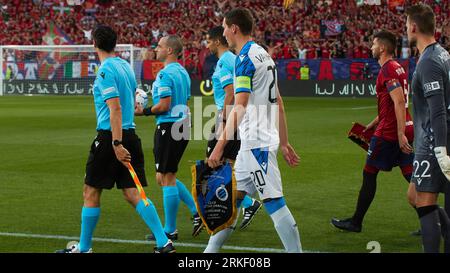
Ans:
<svg viewBox="0 0 450 273"><path fill-rule="evenodd" d="M100 196L103 189L116 185L155 234L155 253L173 253L175 248L164 234L155 207L149 199L148 206L144 204L126 167L131 162L141 184L147 185L141 140L134 131L137 84L133 69L128 62L116 57L117 34L111 27L97 26L92 36L101 61L94 82L98 134L86 163L80 242L56 252L92 252L92 235L100 217Z"/></svg>

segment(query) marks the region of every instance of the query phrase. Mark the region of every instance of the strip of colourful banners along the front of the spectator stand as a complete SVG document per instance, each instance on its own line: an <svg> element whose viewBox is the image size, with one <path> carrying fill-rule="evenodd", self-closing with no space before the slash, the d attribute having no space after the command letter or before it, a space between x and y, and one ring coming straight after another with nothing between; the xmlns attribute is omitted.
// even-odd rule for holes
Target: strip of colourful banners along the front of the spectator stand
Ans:
<svg viewBox="0 0 450 273"><path fill-rule="evenodd" d="M61 57L61 56L60 56ZM67 60L66 60L67 59ZM53 59L52 59L53 60ZM95 77L99 63L96 61L73 61L70 56L59 59L61 63L43 65L36 62L4 62L3 79L5 80L60 80L70 81ZM398 59L409 79L412 79L416 67L416 60ZM53 61L52 61L53 62ZM361 80L376 78L380 65L375 59L309 59L309 60L277 60L279 80L300 79L300 68L305 64L309 67L311 80ZM135 62L135 73L138 80L152 81L163 68L162 63L156 61ZM204 66L203 77L212 75L214 65ZM209 71L211 70L211 71ZM198 75L191 75L198 79Z"/></svg>

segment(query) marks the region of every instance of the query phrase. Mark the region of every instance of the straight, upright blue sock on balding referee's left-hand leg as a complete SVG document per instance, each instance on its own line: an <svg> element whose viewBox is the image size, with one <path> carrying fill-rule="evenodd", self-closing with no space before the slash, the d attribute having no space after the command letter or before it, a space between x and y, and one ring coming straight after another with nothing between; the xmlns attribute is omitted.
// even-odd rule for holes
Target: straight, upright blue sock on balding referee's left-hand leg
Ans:
<svg viewBox="0 0 450 273"><path fill-rule="evenodd" d="M177 186L163 186L164 231L172 233L177 229L177 213L180 204Z"/></svg>

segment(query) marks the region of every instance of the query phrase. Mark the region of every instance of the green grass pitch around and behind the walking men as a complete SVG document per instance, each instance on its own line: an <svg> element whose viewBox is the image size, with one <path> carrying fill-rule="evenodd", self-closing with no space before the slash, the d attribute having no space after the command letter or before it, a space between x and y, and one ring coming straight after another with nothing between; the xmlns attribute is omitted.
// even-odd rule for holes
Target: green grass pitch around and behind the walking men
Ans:
<svg viewBox="0 0 450 273"><path fill-rule="evenodd" d="M204 105L209 103L212 98L203 99ZM362 233L340 232L330 225L331 217L349 217L355 208L365 153L346 134L352 121L368 123L376 115L375 98L285 98L285 106L289 139L301 163L291 169L279 156L279 165L304 250L369 252L367 243L377 241L381 252L421 252L421 239L409 235L419 223L407 204L407 183L398 168L380 173L378 192ZM163 219L162 192L154 179L154 120L138 117L136 123L146 157L146 193ZM79 236L84 167L96 135L92 97L0 97L0 128L0 252L53 252L65 247L66 240L31 235ZM204 157L205 145L205 140L191 141L180 163L178 177L188 187L191 162ZM104 191L101 205L94 237L143 240L149 232L121 191ZM189 212L181 203L179 242L207 243L205 231L192 238L191 229ZM246 230L237 229L226 245L283 248L264 210ZM153 249L150 244L114 242L94 242L93 247L95 252L145 253ZM177 251L203 249L178 246Z"/></svg>

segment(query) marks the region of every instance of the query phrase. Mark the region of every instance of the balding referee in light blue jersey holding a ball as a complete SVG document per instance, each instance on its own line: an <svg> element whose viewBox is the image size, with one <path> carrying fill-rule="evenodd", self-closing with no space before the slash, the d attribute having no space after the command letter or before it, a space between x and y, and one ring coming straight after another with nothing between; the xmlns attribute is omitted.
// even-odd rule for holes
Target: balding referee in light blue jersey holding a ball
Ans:
<svg viewBox="0 0 450 273"><path fill-rule="evenodd" d="M155 51L156 59L164 63L164 68L158 72L153 83L153 105L145 109L137 105L135 115L156 116L153 155L156 181L163 191L164 231L169 239L177 240L176 221L180 200L191 212L194 225L192 236L197 236L203 227L190 191L176 177L178 164L190 138L188 100L191 79L186 69L178 63L178 56L183 51L180 37L162 37ZM154 240L154 235L147 235L146 239Z"/></svg>

